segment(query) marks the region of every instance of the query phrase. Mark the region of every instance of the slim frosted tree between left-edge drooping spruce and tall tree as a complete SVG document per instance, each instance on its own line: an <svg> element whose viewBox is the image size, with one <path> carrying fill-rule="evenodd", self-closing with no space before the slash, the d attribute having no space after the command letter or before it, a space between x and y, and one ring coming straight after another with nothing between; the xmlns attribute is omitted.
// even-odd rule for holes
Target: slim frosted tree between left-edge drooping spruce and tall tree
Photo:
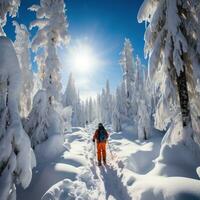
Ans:
<svg viewBox="0 0 200 200"><path fill-rule="evenodd" d="M16 40L14 42L15 50L19 60L22 72L22 91L20 94L20 114L23 118L27 117L32 107L33 97L33 73L30 61L30 41L29 32L25 25L19 25L16 21L15 25Z"/></svg>

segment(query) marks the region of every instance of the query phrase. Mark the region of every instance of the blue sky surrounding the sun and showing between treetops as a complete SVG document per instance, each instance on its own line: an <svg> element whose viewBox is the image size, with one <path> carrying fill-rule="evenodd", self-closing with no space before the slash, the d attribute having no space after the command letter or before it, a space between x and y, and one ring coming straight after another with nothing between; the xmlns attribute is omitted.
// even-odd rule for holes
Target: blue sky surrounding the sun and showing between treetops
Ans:
<svg viewBox="0 0 200 200"><path fill-rule="evenodd" d="M59 50L63 64L62 83L66 87L70 71L74 73L80 94L85 98L95 95L104 87L109 79L112 91L122 79L119 65L120 52L125 38L133 44L134 55L139 55L146 64L143 56L144 24L137 22L137 12L142 0L66 0L66 14L69 22L70 43ZM32 4L39 4L38 0L22 0L16 21L29 25L35 19L35 14L27 8ZM15 38L11 20L5 27L5 32L12 40ZM31 31L34 36L36 29ZM91 47L92 53L99 64L84 73L69 66L69 51L77 43L84 43Z"/></svg>

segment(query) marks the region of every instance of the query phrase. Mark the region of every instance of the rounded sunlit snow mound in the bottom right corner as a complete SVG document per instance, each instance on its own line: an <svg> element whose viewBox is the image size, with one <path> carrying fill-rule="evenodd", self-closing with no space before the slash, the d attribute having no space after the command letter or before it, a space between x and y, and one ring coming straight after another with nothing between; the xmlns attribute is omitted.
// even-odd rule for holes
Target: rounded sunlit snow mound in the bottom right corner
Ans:
<svg viewBox="0 0 200 200"><path fill-rule="evenodd" d="M200 181L182 177L149 177L137 181L134 200L199 200Z"/></svg>

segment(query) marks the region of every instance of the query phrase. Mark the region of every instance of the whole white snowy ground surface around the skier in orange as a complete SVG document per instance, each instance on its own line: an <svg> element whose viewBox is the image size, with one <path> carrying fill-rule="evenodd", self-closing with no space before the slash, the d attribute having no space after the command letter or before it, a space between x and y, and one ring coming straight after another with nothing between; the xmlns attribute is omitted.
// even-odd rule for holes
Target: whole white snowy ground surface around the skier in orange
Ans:
<svg viewBox="0 0 200 200"><path fill-rule="evenodd" d="M25 191L19 190L18 199L200 199L200 181L197 175L199 168L195 169L196 162L194 158L190 159L192 153L185 154L188 151L186 146L175 145L180 151L166 150L168 155L171 155L171 160L174 159L170 166L173 175L166 173L161 176L155 173L158 167L164 169L164 164L158 165L156 160L162 140L160 133L154 132L148 141L141 142L137 139L137 134L113 132L107 127L110 133L107 146L108 164L98 167L96 148L91 141L95 128L94 125L89 125L86 128L72 128L72 133L66 133L63 151L38 164L33 172L31 185ZM180 156L182 154L185 154L185 157ZM160 157L162 155L164 154L161 151ZM181 161L187 159L189 162L184 168ZM185 177L184 173L179 173L182 167L187 170Z"/></svg>

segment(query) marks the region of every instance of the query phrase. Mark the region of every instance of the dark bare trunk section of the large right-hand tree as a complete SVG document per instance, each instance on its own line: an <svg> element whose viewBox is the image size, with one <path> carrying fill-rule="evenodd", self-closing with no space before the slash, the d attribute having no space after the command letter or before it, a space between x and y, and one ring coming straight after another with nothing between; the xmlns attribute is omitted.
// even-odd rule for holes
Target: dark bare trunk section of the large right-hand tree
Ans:
<svg viewBox="0 0 200 200"><path fill-rule="evenodd" d="M183 71L180 72L180 75L177 76L176 81L178 86L178 94L179 94L181 114L182 114L182 124L183 127L191 126L191 113L190 113L185 67Z"/></svg>

